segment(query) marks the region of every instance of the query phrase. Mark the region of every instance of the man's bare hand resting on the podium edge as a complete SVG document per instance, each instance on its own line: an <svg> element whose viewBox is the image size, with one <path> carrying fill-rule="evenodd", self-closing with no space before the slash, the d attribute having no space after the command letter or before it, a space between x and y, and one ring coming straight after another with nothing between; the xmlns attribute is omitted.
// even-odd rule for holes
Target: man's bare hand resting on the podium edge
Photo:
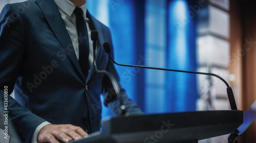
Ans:
<svg viewBox="0 0 256 143"><path fill-rule="evenodd" d="M67 125L46 125L37 135L37 143L59 143L57 139L63 142L80 139L88 134L80 127Z"/></svg>

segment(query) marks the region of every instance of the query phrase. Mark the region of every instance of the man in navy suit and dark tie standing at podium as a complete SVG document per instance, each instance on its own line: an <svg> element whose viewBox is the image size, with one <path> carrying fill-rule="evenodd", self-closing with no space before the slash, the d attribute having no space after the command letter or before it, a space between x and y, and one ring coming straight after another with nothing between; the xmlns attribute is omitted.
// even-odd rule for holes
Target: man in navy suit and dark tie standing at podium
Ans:
<svg viewBox="0 0 256 143"><path fill-rule="evenodd" d="M81 16L86 35L78 32ZM8 94L14 89L15 100L8 98L9 120L23 142L68 142L98 131L100 94L118 115L120 103L113 85L94 71L88 38L92 30L99 33L98 69L109 71L119 82L102 47L109 42L113 51L109 28L91 16L86 0L31 0L4 7L0 15L0 95L4 96L4 87ZM122 88L120 95L131 114L142 113Z"/></svg>

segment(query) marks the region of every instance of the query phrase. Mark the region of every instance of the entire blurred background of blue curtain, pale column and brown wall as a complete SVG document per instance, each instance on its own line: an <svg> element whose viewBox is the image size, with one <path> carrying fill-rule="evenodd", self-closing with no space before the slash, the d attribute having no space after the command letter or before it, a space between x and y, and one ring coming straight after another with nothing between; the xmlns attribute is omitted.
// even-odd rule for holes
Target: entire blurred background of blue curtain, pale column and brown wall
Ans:
<svg viewBox="0 0 256 143"><path fill-rule="evenodd" d="M15 2L22 1L1 0L0 10ZM112 32L117 63L218 74L244 111L256 100L255 6L253 0L87 0L89 12ZM230 109L226 85L216 77L116 69L127 95L147 114ZM104 107L102 118L109 117ZM239 142L255 142L255 133L254 122Z"/></svg>

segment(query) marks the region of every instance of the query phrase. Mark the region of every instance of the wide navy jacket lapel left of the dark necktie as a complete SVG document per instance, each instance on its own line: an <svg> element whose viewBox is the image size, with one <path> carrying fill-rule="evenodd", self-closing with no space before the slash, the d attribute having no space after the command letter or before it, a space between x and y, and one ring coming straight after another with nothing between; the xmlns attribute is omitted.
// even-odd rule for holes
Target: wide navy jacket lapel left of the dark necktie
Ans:
<svg viewBox="0 0 256 143"><path fill-rule="evenodd" d="M85 82L85 79L82 75L81 68L79 66L74 47L72 45L72 41L66 29L66 26L60 16L59 10L53 0L38 0L36 1L38 6L40 7L42 13L44 14L47 22L62 48L65 50L69 59L72 61L76 69L78 70L81 79Z"/></svg>

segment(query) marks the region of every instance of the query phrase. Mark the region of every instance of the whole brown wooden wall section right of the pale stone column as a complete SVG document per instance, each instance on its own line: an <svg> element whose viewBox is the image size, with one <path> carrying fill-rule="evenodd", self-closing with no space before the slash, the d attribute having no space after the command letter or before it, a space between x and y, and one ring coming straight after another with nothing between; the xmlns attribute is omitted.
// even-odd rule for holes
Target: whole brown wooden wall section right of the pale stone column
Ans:
<svg viewBox="0 0 256 143"><path fill-rule="evenodd" d="M256 6L255 1L230 1L230 73L236 75L232 85L241 89L238 107L246 111L256 100ZM235 55L236 54L236 55ZM232 66L232 64L234 66ZM239 142L255 142L256 122L246 130Z"/></svg>

